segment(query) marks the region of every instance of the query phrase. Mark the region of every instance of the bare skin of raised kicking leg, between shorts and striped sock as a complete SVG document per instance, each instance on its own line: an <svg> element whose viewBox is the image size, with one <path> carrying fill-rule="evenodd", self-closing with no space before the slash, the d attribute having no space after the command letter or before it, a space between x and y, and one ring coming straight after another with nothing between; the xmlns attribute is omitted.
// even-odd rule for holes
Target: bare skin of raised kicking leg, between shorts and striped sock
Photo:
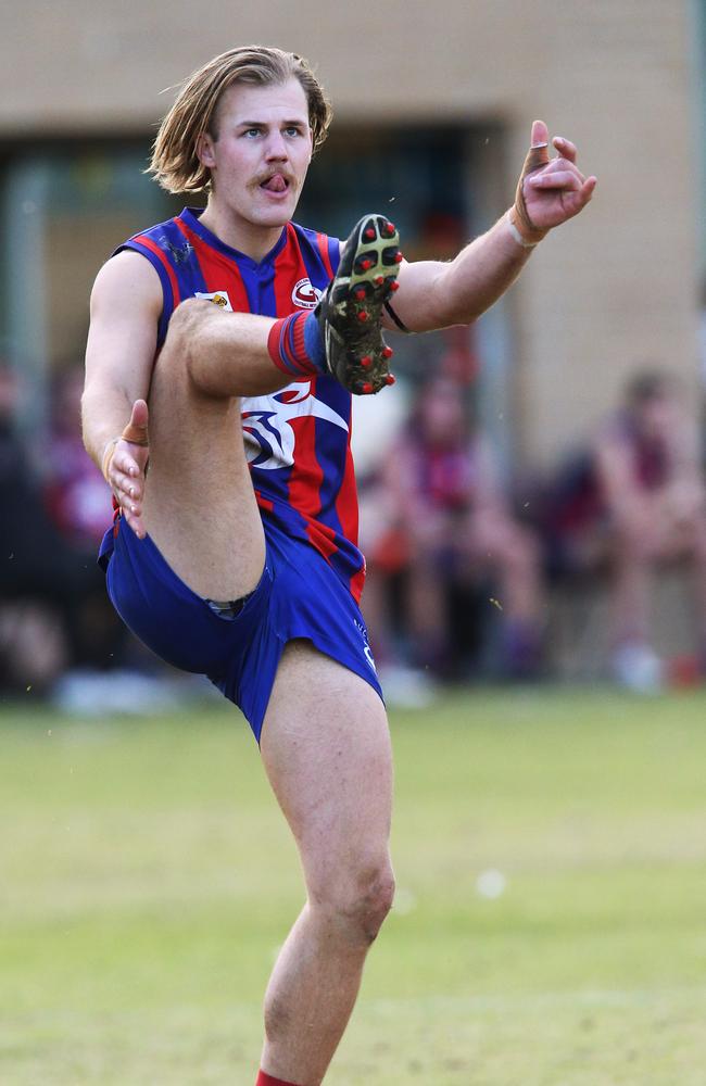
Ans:
<svg viewBox="0 0 706 1086"><path fill-rule="evenodd" d="M264 565L239 397L286 383L263 345L270 325L186 302L154 367L144 523L179 577L214 599L250 592Z"/></svg>

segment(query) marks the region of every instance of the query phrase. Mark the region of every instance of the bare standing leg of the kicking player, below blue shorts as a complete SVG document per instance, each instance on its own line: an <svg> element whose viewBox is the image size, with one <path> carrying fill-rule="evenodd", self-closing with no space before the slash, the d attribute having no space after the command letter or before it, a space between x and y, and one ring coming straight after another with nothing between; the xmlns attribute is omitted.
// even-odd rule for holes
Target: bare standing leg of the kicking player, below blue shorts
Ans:
<svg viewBox="0 0 706 1086"><path fill-rule="evenodd" d="M392 904L392 759L382 703L308 642L291 642L262 755L307 892L267 988L262 1065L288 1083L318 1086Z"/></svg>

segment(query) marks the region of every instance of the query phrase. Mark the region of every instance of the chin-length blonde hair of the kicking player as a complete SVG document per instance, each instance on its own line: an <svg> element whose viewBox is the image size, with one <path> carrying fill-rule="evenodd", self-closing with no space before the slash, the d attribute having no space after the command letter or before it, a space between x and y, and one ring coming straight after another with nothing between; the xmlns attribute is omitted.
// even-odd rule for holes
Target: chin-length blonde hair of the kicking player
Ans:
<svg viewBox="0 0 706 1086"><path fill-rule="evenodd" d="M299 79L308 105L314 151L326 139L332 111L311 65L297 53L265 46L241 46L214 56L182 84L152 147L147 169L167 192L201 192L210 188L211 172L197 154L206 132L218 138L218 103L234 83L268 86Z"/></svg>

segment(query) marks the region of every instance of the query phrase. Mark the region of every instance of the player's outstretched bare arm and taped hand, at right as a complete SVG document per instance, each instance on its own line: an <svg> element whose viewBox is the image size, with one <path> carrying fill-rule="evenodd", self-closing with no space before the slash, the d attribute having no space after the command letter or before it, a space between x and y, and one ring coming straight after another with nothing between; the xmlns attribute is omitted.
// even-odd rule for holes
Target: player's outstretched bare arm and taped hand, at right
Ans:
<svg viewBox="0 0 706 1086"><path fill-rule="evenodd" d="M546 125L535 121L513 207L450 264L403 265L393 304L411 331L471 324L515 281L534 245L587 205L595 177L579 171L573 143L557 136L552 144L555 159Z"/></svg>

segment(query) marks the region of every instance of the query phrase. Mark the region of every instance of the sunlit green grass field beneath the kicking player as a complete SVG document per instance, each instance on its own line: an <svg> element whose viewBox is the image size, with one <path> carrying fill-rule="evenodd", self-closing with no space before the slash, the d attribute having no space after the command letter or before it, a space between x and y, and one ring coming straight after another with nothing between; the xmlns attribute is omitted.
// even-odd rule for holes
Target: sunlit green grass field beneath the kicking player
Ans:
<svg viewBox="0 0 706 1086"><path fill-rule="evenodd" d="M392 729L398 902L327 1083L703 1086L706 695ZM0 1083L252 1086L301 888L239 715L5 708L0 767Z"/></svg>

